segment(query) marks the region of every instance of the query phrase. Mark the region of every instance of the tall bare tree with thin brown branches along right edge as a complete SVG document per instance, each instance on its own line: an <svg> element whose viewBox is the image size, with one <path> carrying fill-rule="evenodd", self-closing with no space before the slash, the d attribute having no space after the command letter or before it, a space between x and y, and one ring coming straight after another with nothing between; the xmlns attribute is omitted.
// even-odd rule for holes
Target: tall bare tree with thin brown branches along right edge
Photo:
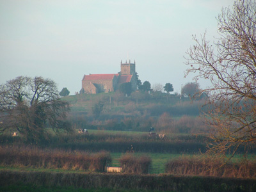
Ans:
<svg viewBox="0 0 256 192"><path fill-rule="evenodd" d="M186 76L196 72L195 80L209 79L214 105L207 122L211 133L210 152L234 155L239 148L247 152L256 143L256 3L236 1L218 16L214 44L193 36L195 45L186 56Z"/></svg>

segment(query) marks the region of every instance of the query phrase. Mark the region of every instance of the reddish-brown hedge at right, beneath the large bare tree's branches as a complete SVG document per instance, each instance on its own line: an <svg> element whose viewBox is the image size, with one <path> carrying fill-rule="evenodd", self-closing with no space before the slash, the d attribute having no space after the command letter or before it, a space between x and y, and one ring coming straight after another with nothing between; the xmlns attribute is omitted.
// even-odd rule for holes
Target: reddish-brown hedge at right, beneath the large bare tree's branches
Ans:
<svg viewBox="0 0 256 192"><path fill-rule="evenodd" d="M256 161L225 162L211 156L179 157L166 163L166 173L256 179Z"/></svg>

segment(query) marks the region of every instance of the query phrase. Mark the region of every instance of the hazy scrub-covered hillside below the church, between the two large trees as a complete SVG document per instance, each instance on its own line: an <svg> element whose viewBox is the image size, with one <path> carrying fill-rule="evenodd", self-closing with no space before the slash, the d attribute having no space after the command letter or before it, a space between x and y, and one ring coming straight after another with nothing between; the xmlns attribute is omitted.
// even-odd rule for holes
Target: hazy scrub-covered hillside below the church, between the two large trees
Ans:
<svg viewBox="0 0 256 192"><path fill-rule="evenodd" d="M205 129L199 117L204 100L162 92L79 94L62 97L70 102L70 119L75 128L119 131L198 133ZM204 127L204 128L202 128ZM195 130L196 129L196 130Z"/></svg>

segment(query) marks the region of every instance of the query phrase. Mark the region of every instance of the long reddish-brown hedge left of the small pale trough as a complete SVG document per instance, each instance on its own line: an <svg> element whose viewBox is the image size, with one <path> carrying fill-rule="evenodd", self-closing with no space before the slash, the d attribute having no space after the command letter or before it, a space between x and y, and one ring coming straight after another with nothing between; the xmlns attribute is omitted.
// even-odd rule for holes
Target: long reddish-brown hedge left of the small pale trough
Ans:
<svg viewBox="0 0 256 192"><path fill-rule="evenodd" d="M108 152L89 154L87 152L44 150L35 147L0 147L2 166L28 166L33 168L61 168L63 170L90 170L104 172L111 161Z"/></svg>

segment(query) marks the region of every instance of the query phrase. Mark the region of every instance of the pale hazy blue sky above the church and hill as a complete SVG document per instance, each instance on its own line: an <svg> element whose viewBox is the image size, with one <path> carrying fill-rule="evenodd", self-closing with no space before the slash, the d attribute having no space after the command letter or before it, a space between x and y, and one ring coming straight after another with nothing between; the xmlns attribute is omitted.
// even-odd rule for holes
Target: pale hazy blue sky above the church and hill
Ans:
<svg viewBox="0 0 256 192"><path fill-rule="evenodd" d="M84 74L120 72L136 61L142 82L184 78L191 35L217 33L216 17L233 0L0 0L0 84L17 76L53 79L70 95ZM207 83L200 82L202 87Z"/></svg>

